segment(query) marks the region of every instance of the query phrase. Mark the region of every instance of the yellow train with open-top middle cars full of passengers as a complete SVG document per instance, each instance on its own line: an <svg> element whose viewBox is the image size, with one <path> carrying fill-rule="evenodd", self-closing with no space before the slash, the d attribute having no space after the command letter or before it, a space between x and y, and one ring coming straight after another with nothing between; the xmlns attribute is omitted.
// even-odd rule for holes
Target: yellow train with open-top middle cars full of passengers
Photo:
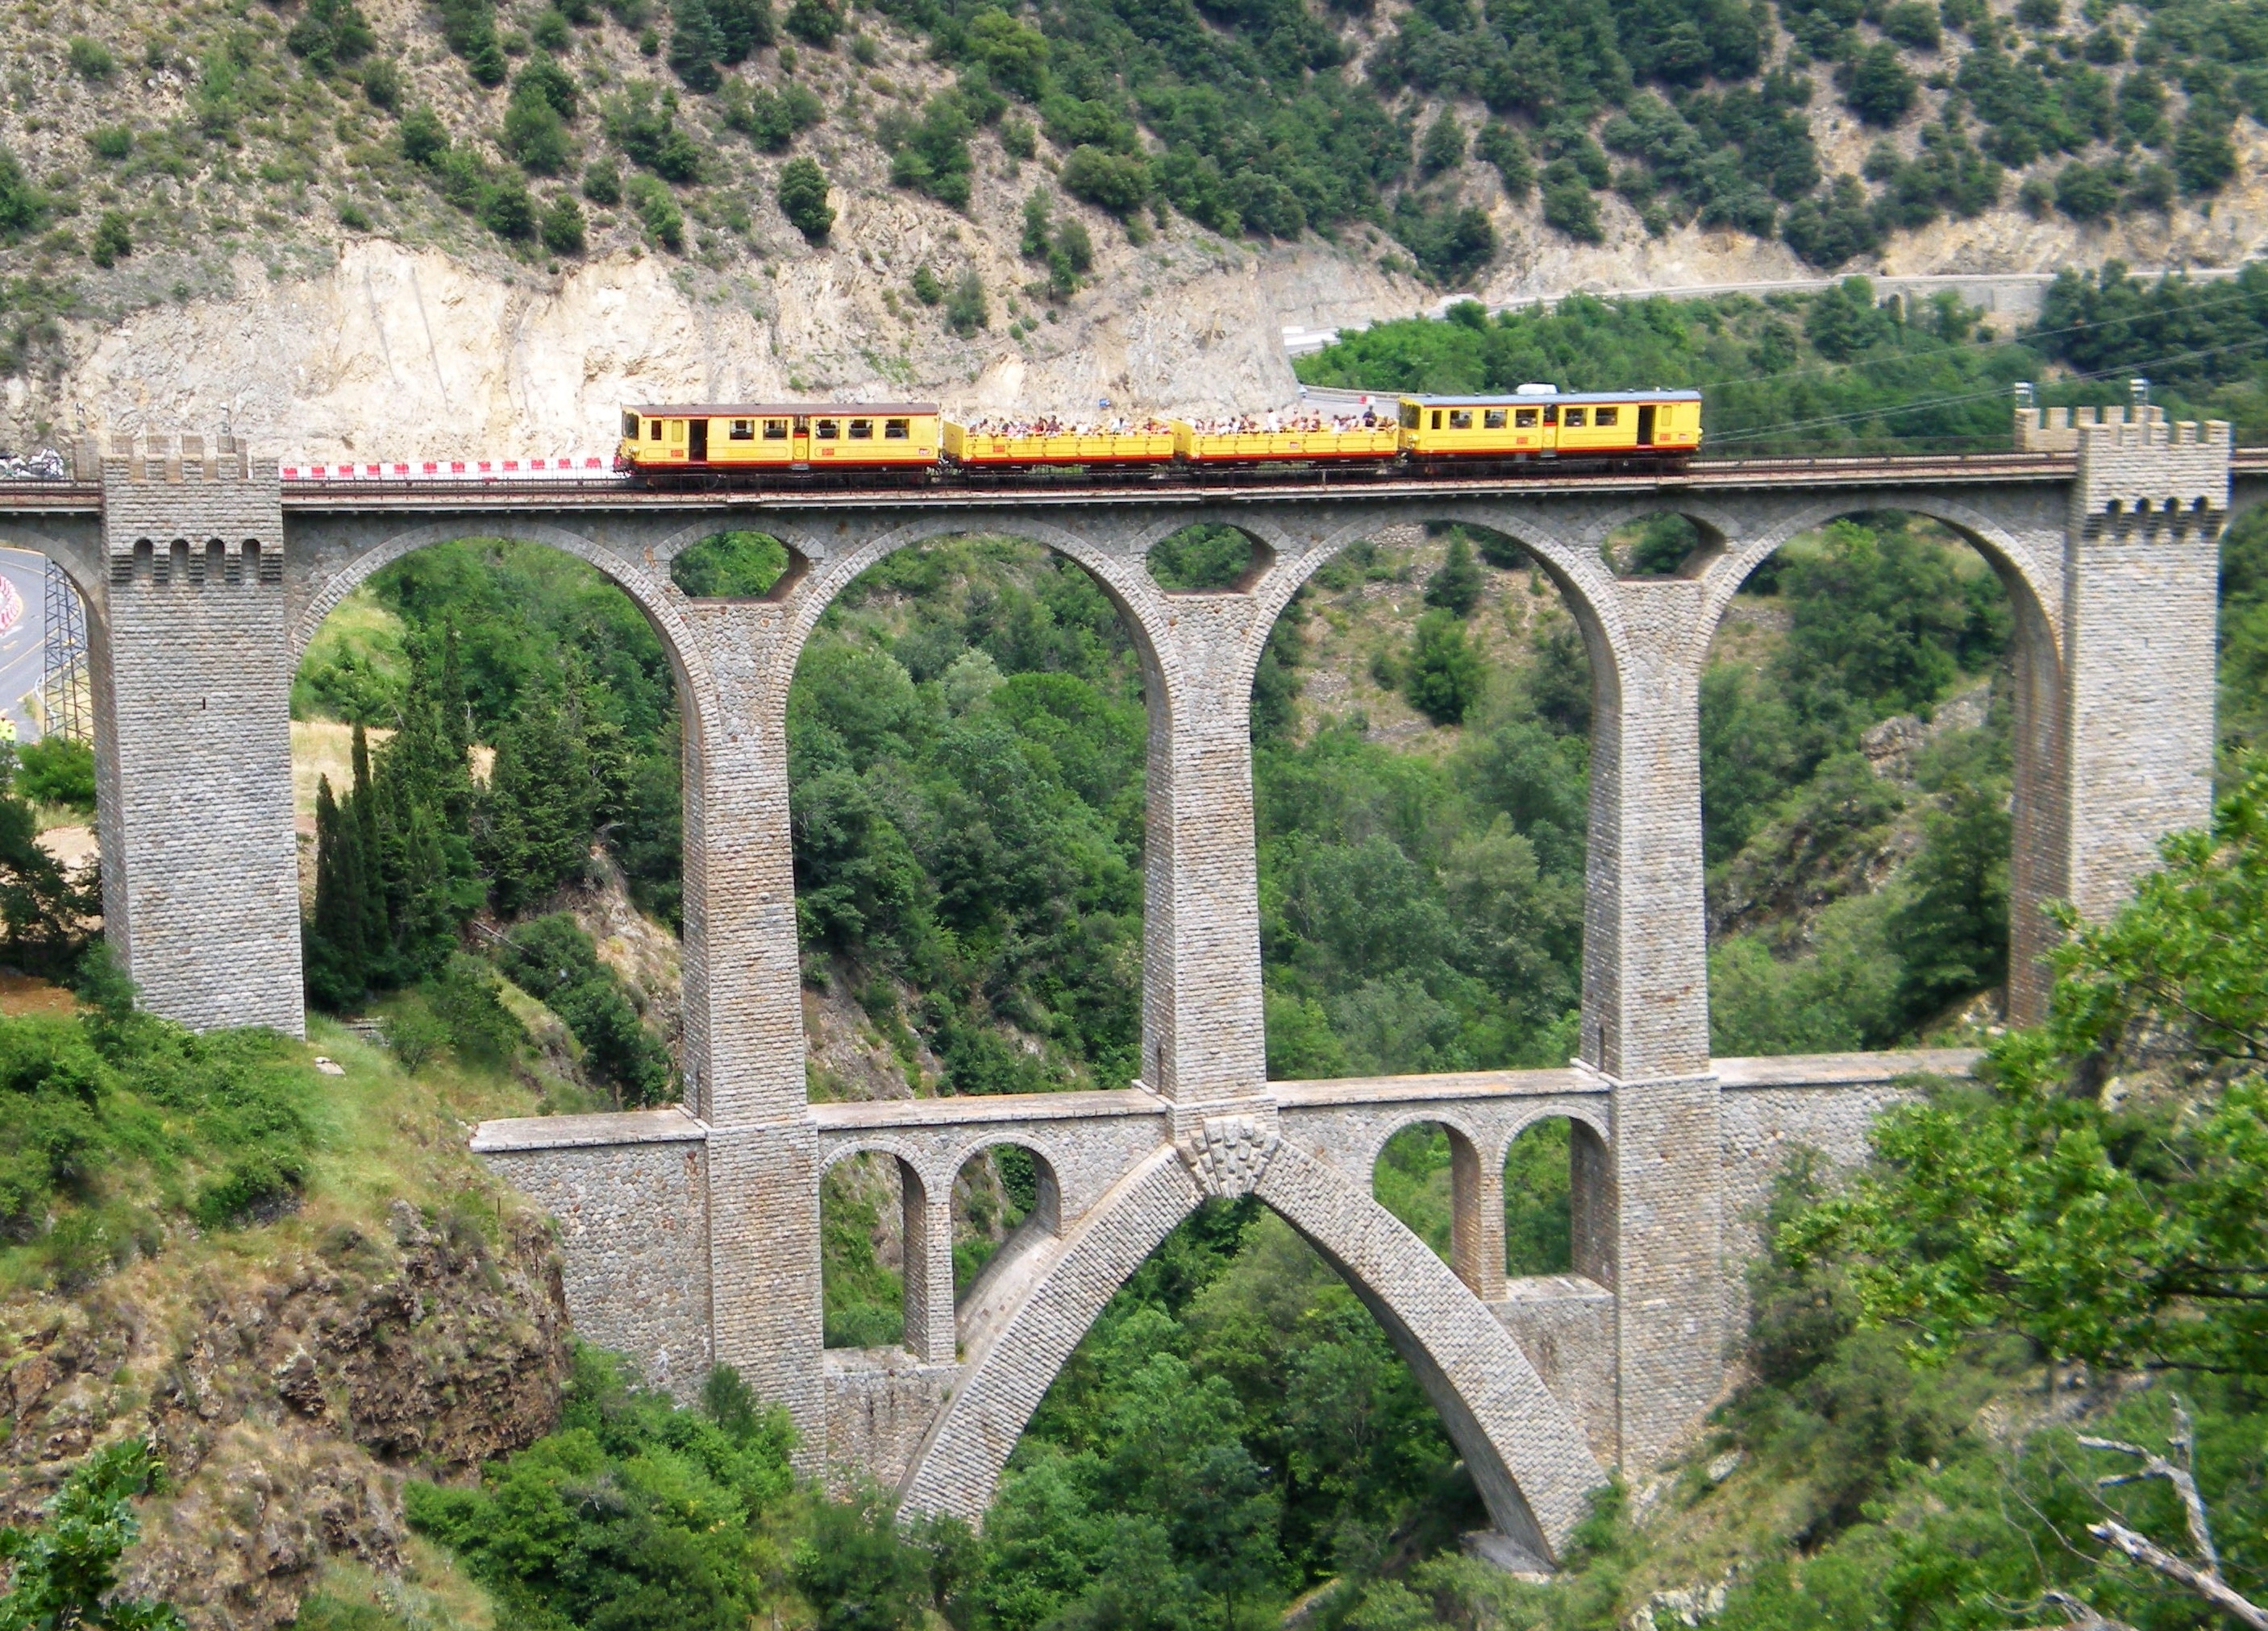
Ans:
<svg viewBox="0 0 2268 1631"><path fill-rule="evenodd" d="M1399 396L1361 412L1225 419L1050 415L946 419L937 403L660 403L626 408L615 469L665 485L780 485L830 476L871 483L1016 480L1077 473L1213 471L1454 476L1488 469L1622 469L1687 460L1701 446L1701 392L1563 392L1522 385L1483 396Z"/></svg>

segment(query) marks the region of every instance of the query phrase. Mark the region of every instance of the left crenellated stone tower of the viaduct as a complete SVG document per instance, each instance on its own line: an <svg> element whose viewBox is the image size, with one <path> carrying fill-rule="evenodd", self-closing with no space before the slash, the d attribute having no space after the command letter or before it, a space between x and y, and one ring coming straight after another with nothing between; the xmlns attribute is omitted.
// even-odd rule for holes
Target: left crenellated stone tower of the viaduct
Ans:
<svg viewBox="0 0 2268 1631"><path fill-rule="evenodd" d="M277 467L152 437L102 460L102 920L143 1004L306 1028Z"/></svg>

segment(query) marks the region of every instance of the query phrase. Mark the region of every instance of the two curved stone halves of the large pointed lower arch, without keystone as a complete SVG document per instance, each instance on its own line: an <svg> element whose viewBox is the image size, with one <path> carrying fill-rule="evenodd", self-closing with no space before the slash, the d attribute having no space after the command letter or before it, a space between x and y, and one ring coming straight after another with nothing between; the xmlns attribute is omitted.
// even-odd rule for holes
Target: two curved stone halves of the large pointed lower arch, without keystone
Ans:
<svg viewBox="0 0 2268 1631"><path fill-rule="evenodd" d="M1510 1332L1424 1241L1336 1169L1279 1144L1256 1194L1354 1289L1465 1457L1497 1527L1549 1559L1603 1477ZM900 1511L978 1522L1016 1438L1127 1275L1204 1196L1179 1151L1134 1167L968 1352L900 1484Z"/></svg>

